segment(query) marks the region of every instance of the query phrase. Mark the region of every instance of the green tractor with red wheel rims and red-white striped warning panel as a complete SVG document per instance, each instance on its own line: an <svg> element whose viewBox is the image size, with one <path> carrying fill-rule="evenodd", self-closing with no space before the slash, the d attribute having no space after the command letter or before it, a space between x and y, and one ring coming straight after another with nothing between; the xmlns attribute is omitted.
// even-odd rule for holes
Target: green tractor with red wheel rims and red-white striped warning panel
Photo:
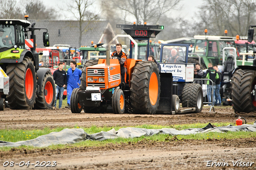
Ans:
<svg viewBox="0 0 256 170"><path fill-rule="evenodd" d="M54 80L49 68L40 68L36 52L35 22L0 20L0 67L10 77L6 100L10 109L52 109L55 100ZM47 29L44 46L49 46ZM28 39L30 34L30 39ZM30 48L30 50L28 50ZM2 96L5 98L5 96Z"/></svg>

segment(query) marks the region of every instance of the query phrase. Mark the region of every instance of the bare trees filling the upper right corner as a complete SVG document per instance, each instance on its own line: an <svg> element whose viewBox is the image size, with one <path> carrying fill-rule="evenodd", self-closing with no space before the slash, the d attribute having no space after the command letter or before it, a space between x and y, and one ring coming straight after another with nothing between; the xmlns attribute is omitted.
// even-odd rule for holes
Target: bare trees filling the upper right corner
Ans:
<svg viewBox="0 0 256 170"><path fill-rule="evenodd" d="M255 23L255 0L204 0L199 8L199 28L207 28L208 34L224 36L246 35L250 24Z"/></svg>

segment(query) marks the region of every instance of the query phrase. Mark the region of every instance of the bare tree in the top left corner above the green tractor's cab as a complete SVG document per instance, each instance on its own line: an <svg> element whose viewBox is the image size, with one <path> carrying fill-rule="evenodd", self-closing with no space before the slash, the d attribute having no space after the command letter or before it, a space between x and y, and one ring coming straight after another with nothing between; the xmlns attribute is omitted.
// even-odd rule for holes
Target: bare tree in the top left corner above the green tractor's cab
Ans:
<svg viewBox="0 0 256 170"><path fill-rule="evenodd" d="M21 9L16 5L16 0L0 0L0 18L22 19Z"/></svg>

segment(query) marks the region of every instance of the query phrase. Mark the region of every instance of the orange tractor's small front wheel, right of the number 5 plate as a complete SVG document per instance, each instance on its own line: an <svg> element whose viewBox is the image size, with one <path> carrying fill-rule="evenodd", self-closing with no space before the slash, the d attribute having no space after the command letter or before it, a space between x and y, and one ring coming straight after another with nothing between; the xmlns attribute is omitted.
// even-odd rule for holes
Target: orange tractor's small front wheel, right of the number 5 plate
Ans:
<svg viewBox="0 0 256 170"><path fill-rule="evenodd" d="M112 95L112 108L114 114L123 114L125 111L124 93L121 89L116 89Z"/></svg>

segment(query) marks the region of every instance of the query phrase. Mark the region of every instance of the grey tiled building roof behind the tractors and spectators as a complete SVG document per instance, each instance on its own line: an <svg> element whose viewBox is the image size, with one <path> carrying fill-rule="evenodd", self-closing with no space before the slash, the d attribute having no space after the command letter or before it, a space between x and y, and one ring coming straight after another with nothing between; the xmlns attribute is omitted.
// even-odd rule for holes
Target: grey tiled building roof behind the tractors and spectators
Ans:
<svg viewBox="0 0 256 170"><path fill-rule="evenodd" d="M53 21L53 20L29 20L30 23L36 22L36 28L46 28L49 32L50 46L54 44L68 44L70 47L79 48L79 28L78 21ZM87 26L88 25L88 26ZM86 31L82 34L81 45L91 45L100 42L105 28L112 30L111 25L107 21L90 21L82 24ZM37 47L44 47L42 35L46 30L36 30ZM113 33L114 34L114 33ZM30 38L30 36L28 36ZM101 39L102 40L102 39Z"/></svg>

